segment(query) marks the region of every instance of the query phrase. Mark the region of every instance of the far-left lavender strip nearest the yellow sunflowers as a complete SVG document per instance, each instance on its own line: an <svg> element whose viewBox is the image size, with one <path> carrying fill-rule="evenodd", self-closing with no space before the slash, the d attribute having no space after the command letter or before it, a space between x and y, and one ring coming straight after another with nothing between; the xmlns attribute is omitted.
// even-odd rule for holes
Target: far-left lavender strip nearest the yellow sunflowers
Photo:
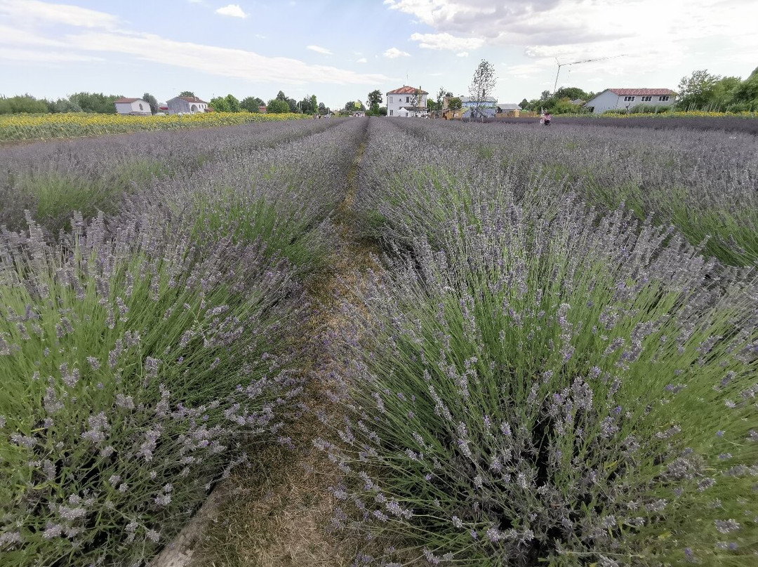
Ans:
<svg viewBox="0 0 758 567"><path fill-rule="evenodd" d="M156 177L243 159L336 125L292 121L9 146L0 150L0 225L23 228L23 211L29 210L56 237L72 211L86 218L98 210L113 213L124 193L143 190Z"/></svg>

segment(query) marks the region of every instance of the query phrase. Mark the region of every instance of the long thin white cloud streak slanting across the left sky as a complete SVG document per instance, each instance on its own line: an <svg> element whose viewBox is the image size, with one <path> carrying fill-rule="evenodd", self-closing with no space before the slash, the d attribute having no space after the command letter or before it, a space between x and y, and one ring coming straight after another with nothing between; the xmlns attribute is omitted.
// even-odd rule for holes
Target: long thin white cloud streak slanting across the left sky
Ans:
<svg viewBox="0 0 758 567"><path fill-rule="evenodd" d="M67 45L81 51L123 53L143 61L262 83L371 85L390 80L382 74L360 74L297 59L265 57L244 49L177 42L149 33L87 32L66 39Z"/></svg>

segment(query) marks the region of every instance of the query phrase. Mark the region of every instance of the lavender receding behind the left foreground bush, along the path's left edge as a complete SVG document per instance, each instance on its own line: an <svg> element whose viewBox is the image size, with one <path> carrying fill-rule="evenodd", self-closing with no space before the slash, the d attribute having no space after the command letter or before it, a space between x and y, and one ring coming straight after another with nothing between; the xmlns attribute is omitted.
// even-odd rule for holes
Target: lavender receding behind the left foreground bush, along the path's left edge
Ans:
<svg viewBox="0 0 758 567"><path fill-rule="evenodd" d="M221 236L238 243L261 240L267 255L283 255L300 277L323 271L334 248L330 217L344 199L362 126L344 121L156 183L127 199L114 224L166 215L172 225L186 225L197 242Z"/></svg>

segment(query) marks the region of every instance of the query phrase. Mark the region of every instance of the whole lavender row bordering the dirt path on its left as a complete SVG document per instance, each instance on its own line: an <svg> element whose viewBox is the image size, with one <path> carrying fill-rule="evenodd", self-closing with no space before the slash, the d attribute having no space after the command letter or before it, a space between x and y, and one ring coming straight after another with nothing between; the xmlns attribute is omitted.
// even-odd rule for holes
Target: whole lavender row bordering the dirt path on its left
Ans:
<svg viewBox="0 0 758 567"><path fill-rule="evenodd" d="M303 278L359 125L0 240L0 553L143 565L302 412ZM357 143L357 142L356 142ZM309 159L309 166L293 165Z"/></svg>

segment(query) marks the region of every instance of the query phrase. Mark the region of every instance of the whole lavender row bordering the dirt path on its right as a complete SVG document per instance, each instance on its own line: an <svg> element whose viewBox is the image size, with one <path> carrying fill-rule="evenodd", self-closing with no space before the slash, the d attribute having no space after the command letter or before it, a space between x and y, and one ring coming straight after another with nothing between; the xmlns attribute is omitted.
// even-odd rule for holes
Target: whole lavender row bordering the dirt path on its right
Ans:
<svg viewBox="0 0 758 567"><path fill-rule="evenodd" d="M334 527L366 564L749 565L754 272L424 135L374 121L362 161L390 255L334 341Z"/></svg>

